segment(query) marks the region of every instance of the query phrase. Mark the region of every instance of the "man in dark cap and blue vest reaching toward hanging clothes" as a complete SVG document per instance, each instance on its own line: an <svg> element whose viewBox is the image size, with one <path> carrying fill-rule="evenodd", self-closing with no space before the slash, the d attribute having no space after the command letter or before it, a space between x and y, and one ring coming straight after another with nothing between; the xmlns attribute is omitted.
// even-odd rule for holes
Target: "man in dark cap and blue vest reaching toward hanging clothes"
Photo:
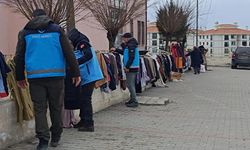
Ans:
<svg viewBox="0 0 250 150"><path fill-rule="evenodd" d="M126 106L138 107L135 88L136 75L140 69L138 42L135 38L133 38L131 33L123 34L122 41L122 49L111 48L110 52L118 52L123 55L123 63L125 66L127 77L127 86L130 92L130 100L125 103Z"/></svg>

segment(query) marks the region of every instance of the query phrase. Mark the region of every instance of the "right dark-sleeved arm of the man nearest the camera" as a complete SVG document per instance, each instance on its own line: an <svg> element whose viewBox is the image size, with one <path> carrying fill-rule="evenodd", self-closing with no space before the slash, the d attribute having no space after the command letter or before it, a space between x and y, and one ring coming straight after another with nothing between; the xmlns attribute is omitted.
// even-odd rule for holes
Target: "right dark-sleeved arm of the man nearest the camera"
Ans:
<svg viewBox="0 0 250 150"><path fill-rule="evenodd" d="M74 55L74 48L70 44L69 39L65 35L63 29L61 29L61 36L60 36L60 42L62 45L62 50L64 57L66 59L66 62L69 65L70 72L73 77L79 77L80 76L80 70L79 70L79 65L77 63L77 60Z"/></svg>

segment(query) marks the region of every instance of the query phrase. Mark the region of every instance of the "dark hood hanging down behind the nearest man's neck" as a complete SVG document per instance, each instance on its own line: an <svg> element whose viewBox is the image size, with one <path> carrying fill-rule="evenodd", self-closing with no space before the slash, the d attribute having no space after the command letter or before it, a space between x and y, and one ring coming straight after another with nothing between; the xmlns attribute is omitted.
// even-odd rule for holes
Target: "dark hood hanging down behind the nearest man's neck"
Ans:
<svg viewBox="0 0 250 150"><path fill-rule="evenodd" d="M48 27L49 24L54 23L48 16L38 16L30 20L24 29L26 30L42 30Z"/></svg>

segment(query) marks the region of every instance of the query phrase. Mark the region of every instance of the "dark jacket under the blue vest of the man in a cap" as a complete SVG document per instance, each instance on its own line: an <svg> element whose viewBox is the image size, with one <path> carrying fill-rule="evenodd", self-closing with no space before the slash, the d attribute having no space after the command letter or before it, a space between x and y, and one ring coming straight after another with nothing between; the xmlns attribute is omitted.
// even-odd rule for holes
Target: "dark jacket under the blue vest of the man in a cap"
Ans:
<svg viewBox="0 0 250 150"><path fill-rule="evenodd" d="M122 50L121 49L117 49L116 51L119 53L119 54L124 54L124 50L126 48L128 48L129 50L129 60L127 62L127 64L124 64L126 68L129 69L129 72L138 72L139 71L139 68L130 68L131 65L133 64L134 62L134 59L135 59L135 50L136 48L138 48L138 42L135 38L132 38L130 39L126 44L125 43L122 43L121 44L121 47L122 47Z"/></svg>

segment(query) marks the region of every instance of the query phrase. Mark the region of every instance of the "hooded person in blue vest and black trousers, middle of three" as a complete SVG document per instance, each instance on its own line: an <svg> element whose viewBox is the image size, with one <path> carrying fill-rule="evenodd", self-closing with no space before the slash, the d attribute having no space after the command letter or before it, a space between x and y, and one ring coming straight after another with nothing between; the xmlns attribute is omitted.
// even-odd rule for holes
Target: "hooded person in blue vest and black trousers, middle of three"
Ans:
<svg viewBox="0 0 250 150"><path fill-rule="evenodd" d="M96 53L87 36L77 29L72 29L68 33L68 37L75 48L75 57L80 66L82 79L79 106L81 120L74 127L78 128L78 131L94 132L92 94L95 82L102 80L104 77Z"/></svg>

